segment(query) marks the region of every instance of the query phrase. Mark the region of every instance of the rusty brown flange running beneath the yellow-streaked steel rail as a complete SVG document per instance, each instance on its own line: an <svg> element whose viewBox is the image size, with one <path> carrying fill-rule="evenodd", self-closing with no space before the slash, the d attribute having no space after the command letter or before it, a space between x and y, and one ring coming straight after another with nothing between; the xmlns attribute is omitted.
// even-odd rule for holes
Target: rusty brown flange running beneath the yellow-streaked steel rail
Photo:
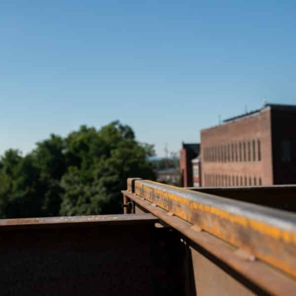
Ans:
<svg viewBox="0 0 296 296"><path fill-rule="evenodd" d="M177 216L168 215L167 211L160 207L152 206L151 202L134 193L128 191L123 191L123 193L134 200L137 207L152 213L161 221L180 231L190 241L201 246L204 250L207 250L207 252L225 262L227 266L230 266L230 268L243 275L250 283L257 285L271 295L287 296L295 294L296 281L292 277L287 276L260 260L250 261L237 256L237 248L222 241L218 237L206 231L200 231L200 228L196 227L196 225L192 225Z"/></svg>

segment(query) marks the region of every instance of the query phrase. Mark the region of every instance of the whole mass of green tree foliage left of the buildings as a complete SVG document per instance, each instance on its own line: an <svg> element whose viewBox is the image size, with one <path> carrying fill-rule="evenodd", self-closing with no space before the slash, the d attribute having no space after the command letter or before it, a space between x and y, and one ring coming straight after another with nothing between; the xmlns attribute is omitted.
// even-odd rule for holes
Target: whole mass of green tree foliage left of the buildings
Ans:
<svg viewBox="0 0 296 296"><path fill-rule="evenodd" d="M50 135L26 156L7 150L0 158L0 218L120 213L127 178L155 179L152 155L153 146L137 142L119 121Z"/></svg>

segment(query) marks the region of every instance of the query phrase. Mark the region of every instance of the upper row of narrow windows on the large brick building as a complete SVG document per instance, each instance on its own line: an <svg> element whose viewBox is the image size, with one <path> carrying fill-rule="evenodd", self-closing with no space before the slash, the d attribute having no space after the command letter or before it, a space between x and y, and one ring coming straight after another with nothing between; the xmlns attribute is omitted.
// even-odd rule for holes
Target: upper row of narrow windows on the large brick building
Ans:
<svg viewBox="0 0 296 296"><path fill-rule="evenodd" d="M212 162L261 161L261 143L252 140L205 147L203 156L204 161Z"/></svg>

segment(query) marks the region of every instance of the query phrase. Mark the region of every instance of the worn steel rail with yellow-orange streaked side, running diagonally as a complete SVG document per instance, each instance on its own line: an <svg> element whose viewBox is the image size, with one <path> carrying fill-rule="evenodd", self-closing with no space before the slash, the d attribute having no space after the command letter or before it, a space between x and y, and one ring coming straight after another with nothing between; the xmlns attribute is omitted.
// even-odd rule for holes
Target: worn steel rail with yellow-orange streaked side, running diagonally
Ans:
<svg viewBox="0 0 296 296"><path fill-rule="evenodd" d="M295 214L147 180L134 193L296 277Z"/></svg>

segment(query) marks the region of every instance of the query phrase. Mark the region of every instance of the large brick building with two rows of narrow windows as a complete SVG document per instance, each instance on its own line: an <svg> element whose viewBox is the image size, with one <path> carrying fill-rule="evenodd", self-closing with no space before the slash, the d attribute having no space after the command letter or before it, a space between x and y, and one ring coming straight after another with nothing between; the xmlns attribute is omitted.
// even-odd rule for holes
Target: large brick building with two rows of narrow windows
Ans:
<svg viewBox="0 0 296 296"><path fill-rule="evenodd" d="M296 106L266 104L201 131L202 186L296 183Z"/></svg>

